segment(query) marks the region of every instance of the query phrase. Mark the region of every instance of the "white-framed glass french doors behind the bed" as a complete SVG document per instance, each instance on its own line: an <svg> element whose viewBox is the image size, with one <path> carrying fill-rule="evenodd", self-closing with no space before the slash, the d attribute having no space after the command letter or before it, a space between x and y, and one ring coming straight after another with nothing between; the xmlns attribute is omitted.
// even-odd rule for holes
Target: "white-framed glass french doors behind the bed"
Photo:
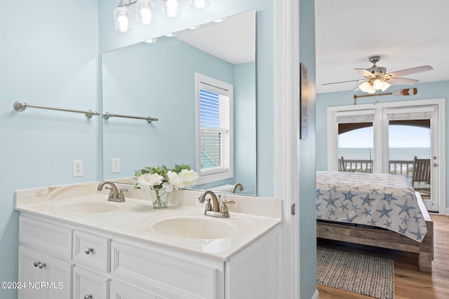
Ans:
<svg viewBox="0 0 449 299"><path fill-rule="evenodd" d="M444 113L444 99L328 107L328 169L401 174L428 211L444 214ZM429 174L421 181L415 157Z"/></svg>

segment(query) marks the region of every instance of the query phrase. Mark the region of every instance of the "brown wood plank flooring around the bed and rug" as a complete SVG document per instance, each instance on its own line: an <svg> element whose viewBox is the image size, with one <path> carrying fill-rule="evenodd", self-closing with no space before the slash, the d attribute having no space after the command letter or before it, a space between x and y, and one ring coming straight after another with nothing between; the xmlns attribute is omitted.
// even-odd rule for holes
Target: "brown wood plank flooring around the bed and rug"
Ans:
<svg viewBox="0 0 449 299"><path fill-rule="evenodd" d="M319 246L368 253L394 260L396 299L448 299L449 298L449 216L431 215L434 221L434 261L432 272L420 272L417 253L348 244L319 239ZM371 298L366 295L342 291L317 284L320 299Z"/></svg>

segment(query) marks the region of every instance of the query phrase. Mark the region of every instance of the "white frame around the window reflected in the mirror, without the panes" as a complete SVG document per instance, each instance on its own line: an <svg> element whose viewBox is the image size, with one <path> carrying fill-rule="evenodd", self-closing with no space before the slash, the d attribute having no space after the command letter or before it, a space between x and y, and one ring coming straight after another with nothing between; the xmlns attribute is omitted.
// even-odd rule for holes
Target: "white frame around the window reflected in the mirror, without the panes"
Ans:
<svg viewBox="0 0 449 299"><path fill-rule="evenodd" d="M204 88L204 86L207 88ZM227 137L229 142L225 148L222 148L222 165L227 167L217 167L213 169L201 169L201 125L200 125L200 89L207 89L224 95L229 98L229 130ZM199 174L197 184L212 183L214 181L221 181L224 179L231 179L234 176L234 127L233 127L233 101L234 88L233 85L225 83L205 76L203 74L195 73L195 107L196 107L196 172Z"/></svg>

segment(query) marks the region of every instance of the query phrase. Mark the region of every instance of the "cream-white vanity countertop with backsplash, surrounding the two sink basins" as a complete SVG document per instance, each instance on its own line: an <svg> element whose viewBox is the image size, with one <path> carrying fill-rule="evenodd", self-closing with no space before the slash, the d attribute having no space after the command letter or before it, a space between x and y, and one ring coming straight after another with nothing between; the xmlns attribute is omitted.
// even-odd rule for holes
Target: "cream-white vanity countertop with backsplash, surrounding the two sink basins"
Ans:
<svg viewBox="0 0 449 299"><path fill-rule="evenodd" d="M133 186L116 184L128 188L125 193L126 202L109 202L108 190L97 191L99 183L16 190L15 209L223 261L281 224L281 200L223 194L222 199L234 200L236 203L228 205L229 218L215 218L204 215L205 204L200 204L198 200L201 191L175 190L170 193L167 208L153 209L149 191L134 190ZM83 202L106 202L113 210L77 213L76 205L72 204ZM71 209L72 207L74 209ZM225 223L225 227L231 228L233 232L227 237L217 239L195 239L172 237L154 230L153 225L157 221L180 215L198 218L200 221L206 217L206 220L213 221L210 223L221 226Z"/></svg>

